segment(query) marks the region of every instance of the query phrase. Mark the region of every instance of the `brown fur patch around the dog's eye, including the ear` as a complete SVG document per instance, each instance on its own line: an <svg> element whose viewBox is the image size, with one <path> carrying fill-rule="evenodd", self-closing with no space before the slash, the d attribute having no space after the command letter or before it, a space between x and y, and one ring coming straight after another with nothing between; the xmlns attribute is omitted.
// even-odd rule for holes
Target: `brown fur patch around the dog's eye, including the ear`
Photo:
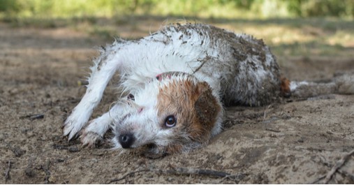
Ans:
<svg viewBox="0 0 354 185"><path fill-rule="evenodd" d="M176 153L187 145L205 145L211 136L216 116L221 110L212 90L206 82L195 84L193 80L171 79L158 94L158 117L164 127L165 117L175 115L177 124L170 136L166 150ZM180 147L182 146L182 147Z"/></svg>

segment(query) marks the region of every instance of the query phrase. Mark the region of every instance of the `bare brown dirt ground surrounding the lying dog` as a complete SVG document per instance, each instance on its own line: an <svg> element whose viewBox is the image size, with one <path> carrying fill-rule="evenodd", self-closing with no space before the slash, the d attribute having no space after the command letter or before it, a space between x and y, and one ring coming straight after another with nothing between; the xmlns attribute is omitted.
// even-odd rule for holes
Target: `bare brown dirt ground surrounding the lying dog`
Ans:
<svg viewBox="0 0 354 185"><path fill-rule="evenodd" d="M148 33L145 33L148 34ZM108 145L67 142L61 126L80 101L94 47L105 41L68 28L13 28L0 23L1 184L303 184L321 183L354 149L354 96L284 99L261 108L227 108L223 133L189 154L150 159ZM354 59L279 57L291 80L354 71ZM86 72L85 72L86 71ZM93 117L115 101L112 88ZM178 168L229 177L177 174ZM320 180L320 181L318 181ZM354 155L330 183L354 183Z"/></svg>

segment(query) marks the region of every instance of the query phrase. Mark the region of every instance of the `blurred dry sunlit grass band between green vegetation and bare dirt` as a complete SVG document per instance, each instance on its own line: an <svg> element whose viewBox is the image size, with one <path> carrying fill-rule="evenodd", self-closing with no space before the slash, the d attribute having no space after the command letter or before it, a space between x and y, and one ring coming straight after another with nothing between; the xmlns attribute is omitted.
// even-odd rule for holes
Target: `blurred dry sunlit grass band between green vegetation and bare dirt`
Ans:
<svg viewBox="0 0 354 185"><path fill-rule="evenodd" d="M22 18L3 20L13 27L55 29L68 27L111 42L147 36L172 22L202 22L263 38L276 56L354 57L354 22L337 18L294 19L202 19L196 17L116 16L57 19Z"/></svg>

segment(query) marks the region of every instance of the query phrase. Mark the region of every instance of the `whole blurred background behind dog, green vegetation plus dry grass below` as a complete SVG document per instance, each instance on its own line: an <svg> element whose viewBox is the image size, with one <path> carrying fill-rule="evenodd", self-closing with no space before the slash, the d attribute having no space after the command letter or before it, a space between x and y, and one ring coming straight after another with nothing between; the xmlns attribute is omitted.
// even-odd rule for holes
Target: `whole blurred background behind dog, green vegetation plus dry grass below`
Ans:
<svg viewBox="0 0 354 185"><path fill-rule="evenodd" d="M353 7L351 0L0 0L0 20L13 27L68 27L108 42L146 36L168 22L203 22L263 38L276 56L354 57ZM301 17L326 10L331 16Z"/></svg>

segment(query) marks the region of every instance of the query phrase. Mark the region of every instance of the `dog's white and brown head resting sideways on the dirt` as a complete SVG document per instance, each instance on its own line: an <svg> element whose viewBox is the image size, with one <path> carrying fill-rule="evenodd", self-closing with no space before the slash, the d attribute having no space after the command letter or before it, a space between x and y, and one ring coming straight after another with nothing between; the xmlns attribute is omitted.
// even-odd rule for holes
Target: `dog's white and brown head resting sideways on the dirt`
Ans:
<svg viewBox="0 0 354 185"><path fill-rule="evenodd" d="M124 116L116 120L117 148L153 146L173 154L205 145L219 132L221 103L207 82L186 73L170 72L147 82L145 89L121 102Z"/></svg>

